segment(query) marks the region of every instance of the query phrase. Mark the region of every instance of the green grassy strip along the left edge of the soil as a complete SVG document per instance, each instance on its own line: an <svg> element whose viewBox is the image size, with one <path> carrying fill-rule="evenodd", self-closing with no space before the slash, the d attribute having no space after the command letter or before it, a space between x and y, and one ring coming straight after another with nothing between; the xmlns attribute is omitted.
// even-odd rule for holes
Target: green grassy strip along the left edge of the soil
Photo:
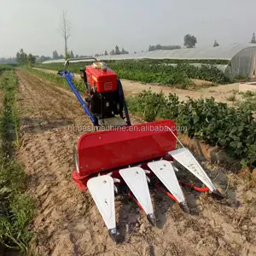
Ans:
<svg viewBox="0 0 256 256"><path fill-rule="evenodd" d="M18 79L14 71L0 77L3 107L0 116L0 243L5 248L28 255L32 231L33 203L26 195L25 172L15 160L18 145L18 113L15 94Z"/></svg>

